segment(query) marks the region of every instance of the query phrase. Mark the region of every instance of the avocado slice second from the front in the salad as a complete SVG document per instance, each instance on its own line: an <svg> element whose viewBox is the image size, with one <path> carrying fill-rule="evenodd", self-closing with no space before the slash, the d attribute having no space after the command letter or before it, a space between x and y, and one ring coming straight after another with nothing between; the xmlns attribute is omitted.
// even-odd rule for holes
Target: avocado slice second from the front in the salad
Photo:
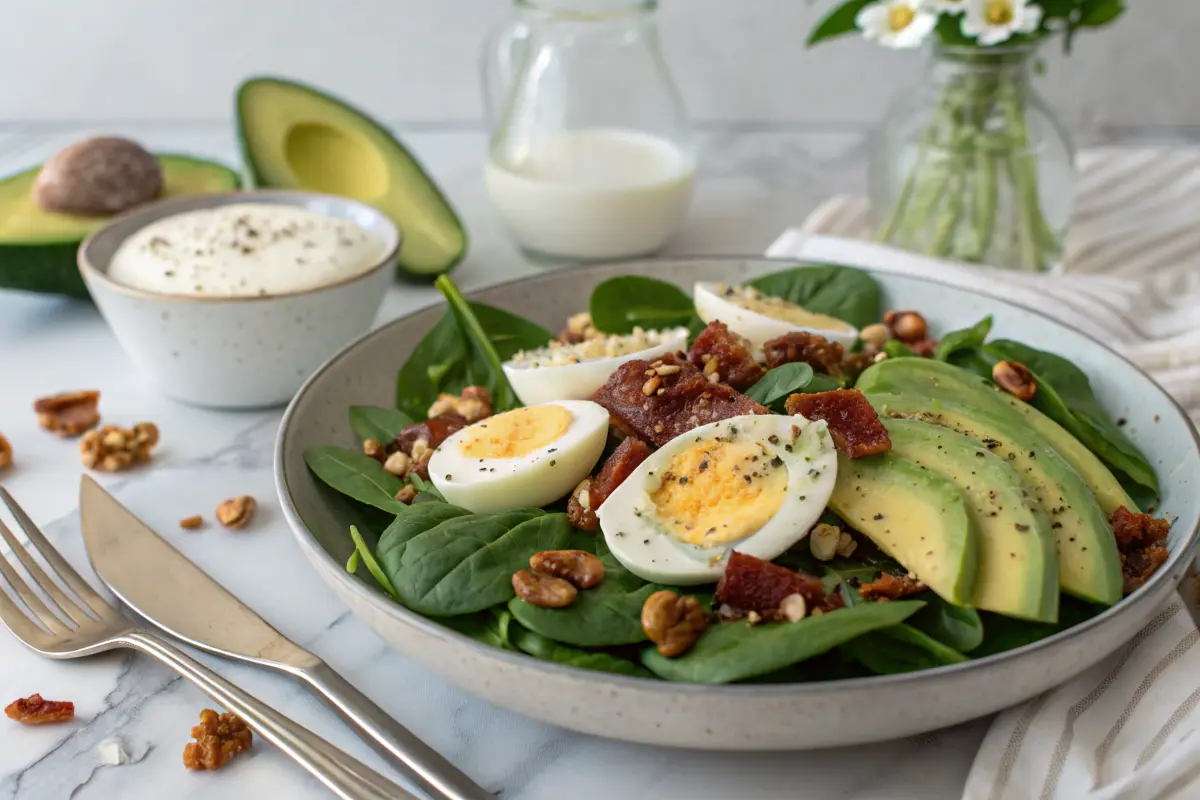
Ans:
<svg viewBox="0 0 1200 800"><path fill-rule="evenodd" d="M979 533L971 606L1036 622L1058 621L1058 558L1050 517L1020 475L949 428L886 420L892 453L953 482Z"/></svg>

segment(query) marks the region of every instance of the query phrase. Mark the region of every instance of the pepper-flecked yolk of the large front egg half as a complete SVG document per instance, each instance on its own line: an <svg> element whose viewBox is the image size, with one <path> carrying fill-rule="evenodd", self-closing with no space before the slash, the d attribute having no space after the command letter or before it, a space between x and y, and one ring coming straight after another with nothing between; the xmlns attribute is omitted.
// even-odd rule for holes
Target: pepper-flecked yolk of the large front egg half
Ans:
<svg viewBox="0 0 1200 800"><path fill-rule="evenodd" d="M787 468L758 441L701 441L677 453L649 493L658 522L680 542L716 547L775 516Z"/></svg>

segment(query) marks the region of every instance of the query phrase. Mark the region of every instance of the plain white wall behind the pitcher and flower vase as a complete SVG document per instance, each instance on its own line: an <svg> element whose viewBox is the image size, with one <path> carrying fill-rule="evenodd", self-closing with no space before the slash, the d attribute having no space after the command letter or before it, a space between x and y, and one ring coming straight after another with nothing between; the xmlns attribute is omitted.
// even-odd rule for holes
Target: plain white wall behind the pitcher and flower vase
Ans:
<svg viewBox="0 0 1200 800"><path fill-rule="evenodd" d="M703 122L875 122L920 56L858 41L805 50L829 0L662 0L667 58ZM271 72L404 126L478 125L480 44L506 0L0 0L0 126L220 122ZM1050 53L1072 127L1200 126L1200 4L1135 0ZM1055 48L1057 49L1057 48Z"/></svg>

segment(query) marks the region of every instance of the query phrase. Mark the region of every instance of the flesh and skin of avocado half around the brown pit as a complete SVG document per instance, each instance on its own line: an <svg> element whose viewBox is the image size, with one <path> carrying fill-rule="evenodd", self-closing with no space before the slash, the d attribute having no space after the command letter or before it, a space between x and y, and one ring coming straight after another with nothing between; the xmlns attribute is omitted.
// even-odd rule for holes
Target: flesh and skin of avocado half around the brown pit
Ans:
<svg viewBox="0 0 1200 800"><path fill-rule="evenodd" d="M214 194L240 186L238 173L202 158L156 155L162 197ZM0 179L0 289L86 297L76 266L79 243L109 217L43 211L31 199L41 167Z"/></svg>

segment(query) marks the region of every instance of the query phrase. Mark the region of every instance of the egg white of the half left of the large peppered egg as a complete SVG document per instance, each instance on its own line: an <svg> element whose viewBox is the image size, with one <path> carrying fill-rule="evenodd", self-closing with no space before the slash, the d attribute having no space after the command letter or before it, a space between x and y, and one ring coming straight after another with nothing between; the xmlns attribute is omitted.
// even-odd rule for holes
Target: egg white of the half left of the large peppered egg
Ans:
<svg viewBox="0 0 1200 800"><path fill-rule="evenodd" d="M565 497L595 467L608 438L608 411L590 401L542 403L571 414L560 437L514 458L474 458L462 441L480 420L446 438L430 458L430 480L446 503L474 513L539 507Z"/></svg>

